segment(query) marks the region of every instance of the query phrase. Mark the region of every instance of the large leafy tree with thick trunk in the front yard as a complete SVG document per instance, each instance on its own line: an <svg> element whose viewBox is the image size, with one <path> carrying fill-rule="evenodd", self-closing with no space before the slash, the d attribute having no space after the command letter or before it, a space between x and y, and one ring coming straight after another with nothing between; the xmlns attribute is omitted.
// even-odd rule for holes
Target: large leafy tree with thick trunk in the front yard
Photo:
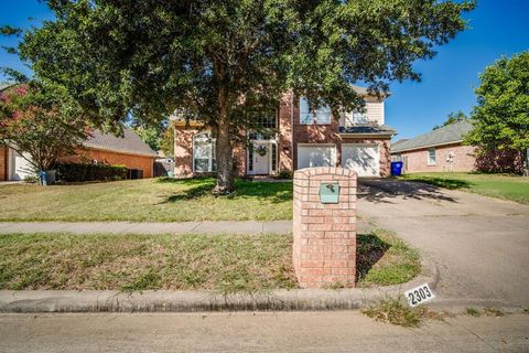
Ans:
<svg viewBox="0 0 529 353"><path fill-rule="evenodd" d="M419 79L412 63L465 28L474 2L439 0L48 0L55 20L20 45L36 75L119 128L174 111L212 129L217 192L230 192L233 148L249 110L293 89L310 104L361 105L352 84L385 92Z"/></svg>

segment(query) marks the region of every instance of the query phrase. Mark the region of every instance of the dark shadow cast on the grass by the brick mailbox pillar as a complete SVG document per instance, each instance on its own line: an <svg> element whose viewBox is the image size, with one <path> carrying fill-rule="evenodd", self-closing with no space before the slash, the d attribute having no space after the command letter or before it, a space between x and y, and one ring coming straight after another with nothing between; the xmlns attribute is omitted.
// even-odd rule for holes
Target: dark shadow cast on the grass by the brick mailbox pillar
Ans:
<svg viewBox="0 0 529 353"><path fill-rule="evenodd" d="M359 281L371 270L391 247L373 233L356 236L356 280Z"/></svg>

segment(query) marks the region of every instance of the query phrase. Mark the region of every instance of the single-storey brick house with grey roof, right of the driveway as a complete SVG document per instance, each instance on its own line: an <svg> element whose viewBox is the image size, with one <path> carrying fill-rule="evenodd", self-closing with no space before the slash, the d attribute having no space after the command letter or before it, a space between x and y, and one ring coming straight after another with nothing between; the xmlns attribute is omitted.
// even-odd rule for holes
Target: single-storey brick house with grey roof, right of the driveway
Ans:
<svg viewBox="0 0 529 353"><path fill-rule="evenodd" d="M391 160L402 161L404 172L468 172L476 168L476 148L464 146L463 138L472 129L468 121L458 121L400 140L391 146Z"/></svg>

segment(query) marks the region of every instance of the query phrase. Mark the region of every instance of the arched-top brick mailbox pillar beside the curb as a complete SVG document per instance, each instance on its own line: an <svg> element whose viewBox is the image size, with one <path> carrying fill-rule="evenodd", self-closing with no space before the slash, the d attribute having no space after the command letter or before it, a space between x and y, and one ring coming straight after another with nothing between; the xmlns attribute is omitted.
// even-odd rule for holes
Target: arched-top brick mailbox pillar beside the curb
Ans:
<svg viewBox="0 0 529 353"><path fill-rule="evenodd" d="M292 258L302 288L355 286L356 176L328 167L294 173Z"/></svg>

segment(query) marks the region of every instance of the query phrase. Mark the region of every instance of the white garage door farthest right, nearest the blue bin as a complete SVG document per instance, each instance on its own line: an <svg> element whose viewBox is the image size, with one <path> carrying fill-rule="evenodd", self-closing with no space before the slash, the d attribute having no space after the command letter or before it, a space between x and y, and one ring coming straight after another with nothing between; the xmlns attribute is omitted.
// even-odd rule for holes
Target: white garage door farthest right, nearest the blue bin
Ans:
<svg viewBox="0 0 529 353"><path fill-rule="evenodd" d="M353 169L358 173L358 176L379 176L380 153L378 152L378 145L342 145L342 165Z"/></svg>

